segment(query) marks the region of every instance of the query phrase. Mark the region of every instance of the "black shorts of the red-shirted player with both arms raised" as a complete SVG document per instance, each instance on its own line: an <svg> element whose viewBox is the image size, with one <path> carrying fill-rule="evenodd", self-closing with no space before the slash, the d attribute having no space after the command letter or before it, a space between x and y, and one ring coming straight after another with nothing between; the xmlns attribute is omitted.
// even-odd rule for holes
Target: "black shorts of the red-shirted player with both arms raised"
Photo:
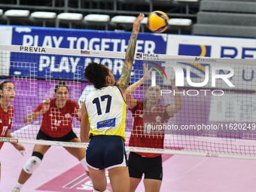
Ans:
<svg viewBox="0 0 256 192"><path fill-rule="evenodd" d="M163 179L162 156L142 157L140 154L130 152L129 155L129 174L131 178Z"/></svg>

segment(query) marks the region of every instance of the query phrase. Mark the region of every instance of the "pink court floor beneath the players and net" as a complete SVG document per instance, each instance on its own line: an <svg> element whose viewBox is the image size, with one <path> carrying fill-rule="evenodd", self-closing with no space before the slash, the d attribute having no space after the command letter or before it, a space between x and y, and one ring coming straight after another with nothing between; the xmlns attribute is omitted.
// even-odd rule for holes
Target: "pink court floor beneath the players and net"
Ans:
<svg viewBox="0 0 256 192"><path fill-rule="evenodd" d="M1 191L11 192L33 145L24 145L24 157L10 143L0 151ZM256 161L186 155L163 155L163 192L255 191ZM106 172L107 174L107 172ZM92 191L90 178L64 148L52 146L38 169L24 184L22 192ZM110 184L108 189L111 190ZM143 183L136 191L144 191Z"/></svg>

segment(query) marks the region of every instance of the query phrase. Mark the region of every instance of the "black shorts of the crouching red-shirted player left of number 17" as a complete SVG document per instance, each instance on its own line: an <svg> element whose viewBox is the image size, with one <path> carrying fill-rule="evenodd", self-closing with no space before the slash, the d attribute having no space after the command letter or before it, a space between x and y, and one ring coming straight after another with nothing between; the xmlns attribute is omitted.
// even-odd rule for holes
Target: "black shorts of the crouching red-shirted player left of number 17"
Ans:
<svg viewBox="0 0 256 192"><path fill-rule="evenodd" d="M48 141L56 141L56 142L69 142L72 139L78 138L78 136L75 135L74 131L71 130L66 136L62 137L51 137L39 130L38 135L36 136L36 139L43 139L43 140L48 140Z"/></svg>

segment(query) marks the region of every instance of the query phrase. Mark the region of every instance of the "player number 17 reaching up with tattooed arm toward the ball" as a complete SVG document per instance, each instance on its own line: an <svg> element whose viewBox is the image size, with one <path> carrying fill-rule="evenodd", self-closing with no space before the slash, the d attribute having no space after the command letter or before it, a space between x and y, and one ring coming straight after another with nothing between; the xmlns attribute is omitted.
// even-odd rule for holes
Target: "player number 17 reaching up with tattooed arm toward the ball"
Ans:
<svg viewBox="0 0 256 192"><path fill-rule="evenodd" d="M87 96L81 108L81 141L88 142L87 165L94 191L105 191L105 169L113 191L129 191L129 173L124 148L126 120L126 89L133 68L139 26L144 14L133 23L133 33L126 50L120 79L115 83L111 69L90 62L84 76L98 90ZM115 85L115 86L114 86ZM90 122L90 123L89 123ZM90 132L89 132L90 131Z"/></svg>

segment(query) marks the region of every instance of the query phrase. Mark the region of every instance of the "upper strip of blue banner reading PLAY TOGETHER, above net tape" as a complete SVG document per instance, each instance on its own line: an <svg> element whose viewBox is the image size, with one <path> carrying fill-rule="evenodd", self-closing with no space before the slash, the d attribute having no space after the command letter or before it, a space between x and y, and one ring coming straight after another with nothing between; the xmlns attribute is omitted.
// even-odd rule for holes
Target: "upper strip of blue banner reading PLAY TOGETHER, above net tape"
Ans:
<svg viewBox="0 0 256 192"><path fill-rule="evenodd" d="M13 27L12 44L125 52L130 35L131 32ZM139 53L165 54L166 36L154 33L139 33L136 51Z"/></svg>

